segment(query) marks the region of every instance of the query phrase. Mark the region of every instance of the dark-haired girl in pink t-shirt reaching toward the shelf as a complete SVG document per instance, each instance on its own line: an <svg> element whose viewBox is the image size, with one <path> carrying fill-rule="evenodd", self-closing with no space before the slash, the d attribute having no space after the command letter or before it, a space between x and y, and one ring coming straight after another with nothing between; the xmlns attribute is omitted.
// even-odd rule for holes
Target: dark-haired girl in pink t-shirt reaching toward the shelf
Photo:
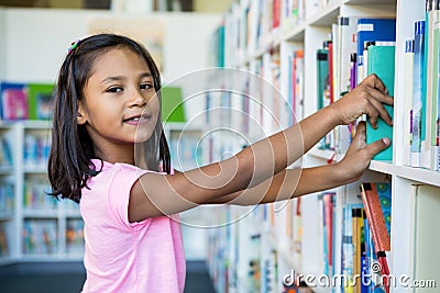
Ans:
<svg viewBox="0 0 440 293"><path fill-rule="evenodd" d="M345 184L389 145L384 138L366 146L361 123L339 164L301 173L286 169L330 129L362 114L373 125L378 116L392 124L382 103L393 99L370 76L338 102L235 156L173 174L160 90L151 55L120 35L73 43L61 67L48 177L54 196L80 203L82 292L183 292L180 227L169 215L199 204L266 203Z"/></svg>

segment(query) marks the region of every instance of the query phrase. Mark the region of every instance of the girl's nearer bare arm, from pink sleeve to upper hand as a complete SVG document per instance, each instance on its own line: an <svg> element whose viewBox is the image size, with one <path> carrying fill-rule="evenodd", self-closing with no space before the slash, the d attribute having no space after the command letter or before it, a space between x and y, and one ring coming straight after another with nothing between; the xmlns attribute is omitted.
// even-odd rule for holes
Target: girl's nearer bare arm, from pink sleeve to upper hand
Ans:
<svg viewBox="0 0 440 293"><path fill-rule="evenodd" d="M174 176L146 173L132 187L129 218L174 214L256 187L296 161L337 125L363 114L373 125L378 116L392 124L382 103L393 104L393 98L385 92L382 81L370 76L336 103L227 160Z"/></svg>

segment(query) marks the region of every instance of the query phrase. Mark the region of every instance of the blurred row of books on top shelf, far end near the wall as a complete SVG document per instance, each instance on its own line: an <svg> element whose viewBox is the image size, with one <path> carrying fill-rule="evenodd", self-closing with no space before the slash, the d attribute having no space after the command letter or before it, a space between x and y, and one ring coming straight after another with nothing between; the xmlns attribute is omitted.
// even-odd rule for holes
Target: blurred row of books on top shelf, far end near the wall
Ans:
<svg viewBox="0 0 440 293"><path fill-rule="evenodd" d="M271 45L292 29L331 5L333 0L241 0L233 1L220 26L224 65L237 66L249 54Z"/></svg>

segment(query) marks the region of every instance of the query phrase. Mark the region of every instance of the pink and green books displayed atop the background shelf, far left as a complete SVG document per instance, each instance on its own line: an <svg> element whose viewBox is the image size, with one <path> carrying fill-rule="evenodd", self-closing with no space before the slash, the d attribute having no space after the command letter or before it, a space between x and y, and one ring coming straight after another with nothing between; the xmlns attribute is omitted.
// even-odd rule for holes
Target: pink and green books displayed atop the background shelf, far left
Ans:
<svg viewBox="0 0 440 293"><path fill-rule="evenodd" d="M53 84L0 82L2 120L47 120L52 117Z"/></svg>

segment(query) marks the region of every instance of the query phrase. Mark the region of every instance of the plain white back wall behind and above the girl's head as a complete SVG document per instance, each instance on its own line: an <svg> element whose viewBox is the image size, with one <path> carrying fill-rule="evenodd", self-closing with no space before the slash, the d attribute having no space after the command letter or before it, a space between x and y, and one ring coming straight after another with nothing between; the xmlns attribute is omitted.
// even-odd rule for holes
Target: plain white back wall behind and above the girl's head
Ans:
<svg viewBox="0 0 440 293"><path fill-rule="evenodd" d="M163 22L164 83L204 68L209 36L218 24L218 14L153 13L117 14L109 11L0 9L4 14L6 75L13 81L52 82L70 42L88 33L94 18L147 19ZM30 27L32 27L30 30ZM2 34L0 23L0 36ZM4 56L4 54L1 54ZM1 66L3 67L3 66Z"/></svg>

